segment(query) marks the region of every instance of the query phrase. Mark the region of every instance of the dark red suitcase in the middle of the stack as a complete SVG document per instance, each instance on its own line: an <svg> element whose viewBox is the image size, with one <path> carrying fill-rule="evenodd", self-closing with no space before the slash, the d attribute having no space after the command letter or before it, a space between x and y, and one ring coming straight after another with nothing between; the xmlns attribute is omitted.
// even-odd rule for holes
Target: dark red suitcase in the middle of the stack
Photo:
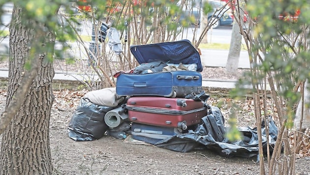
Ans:
<svg viewBox="0 0 310 175"><path fill-rule="evenodd" d="M126 108L131 122L183 130L201 123L201 118L207 116L204 102L185 98L130 97Z"/></svg>

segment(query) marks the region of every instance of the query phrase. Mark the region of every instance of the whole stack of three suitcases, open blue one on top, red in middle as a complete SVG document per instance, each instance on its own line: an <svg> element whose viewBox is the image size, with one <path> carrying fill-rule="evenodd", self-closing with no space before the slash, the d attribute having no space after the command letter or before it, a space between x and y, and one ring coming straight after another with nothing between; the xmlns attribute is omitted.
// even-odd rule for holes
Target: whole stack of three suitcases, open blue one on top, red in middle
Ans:
<svg viewBox="0 0 310 175"><path fill-rule="evenodd" d="M139 64L160 59L173 65L197 65L196 71L122 73L117 77L116 93L129 96L126 109L132 122L132 138L155 145L195 129L207 116L205 102L185 98L202 91L202 65L197 50L188 40L180 40L131 46L130 51Z"/></svg>

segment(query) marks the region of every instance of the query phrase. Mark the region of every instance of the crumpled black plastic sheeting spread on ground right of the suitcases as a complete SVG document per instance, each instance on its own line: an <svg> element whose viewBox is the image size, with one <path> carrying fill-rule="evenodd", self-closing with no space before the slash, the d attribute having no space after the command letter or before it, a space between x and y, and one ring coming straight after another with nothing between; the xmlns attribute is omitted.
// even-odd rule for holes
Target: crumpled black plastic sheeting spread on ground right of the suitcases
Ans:
<svg viewBox="0 0 310 175"><path fill-rule="evenodd" d="M209 115L203 117L203 123L193 131L188 133L178 134L159 141L155 146L178 151L188 152L195 148L208 148L215 150L218 154L224 157L253 157L258 155L258 135L257 128L241 127L239 131L243 133L243 140L237 142L229 142L224 138L225 128L224 119L217 107L211 107ZM269 144L270 150L275 145L277 140L278 129L274 121L269 120ZM266 127L262 122L262 143L264 151L267 150Z"/></svg>

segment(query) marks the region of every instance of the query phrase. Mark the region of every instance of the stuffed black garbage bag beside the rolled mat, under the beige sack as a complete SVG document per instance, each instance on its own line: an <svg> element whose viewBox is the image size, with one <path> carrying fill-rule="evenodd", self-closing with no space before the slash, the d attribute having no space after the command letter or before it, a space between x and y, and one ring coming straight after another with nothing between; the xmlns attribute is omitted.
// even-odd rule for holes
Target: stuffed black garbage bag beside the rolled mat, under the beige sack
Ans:
<svg viewBox="0 0 310 175"><path fill-rule="evenodd" d="M100 139L108 129L104 115L114 108L96 105L87 98L81 98L68 125L69 137L74 141Z"/></svg>

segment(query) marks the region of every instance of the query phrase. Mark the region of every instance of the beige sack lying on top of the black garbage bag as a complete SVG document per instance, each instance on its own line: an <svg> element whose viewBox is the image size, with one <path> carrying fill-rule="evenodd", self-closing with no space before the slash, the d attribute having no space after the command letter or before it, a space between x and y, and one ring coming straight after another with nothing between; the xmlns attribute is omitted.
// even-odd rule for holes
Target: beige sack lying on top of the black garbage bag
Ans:
<svg viewBox="0 0 310 175"><path fill-rule="evenodd" d="M92 103L101 106L116 107L124 100L124 97L116 94L116 87L107 87L87 92L84 97Z"/></svg>

